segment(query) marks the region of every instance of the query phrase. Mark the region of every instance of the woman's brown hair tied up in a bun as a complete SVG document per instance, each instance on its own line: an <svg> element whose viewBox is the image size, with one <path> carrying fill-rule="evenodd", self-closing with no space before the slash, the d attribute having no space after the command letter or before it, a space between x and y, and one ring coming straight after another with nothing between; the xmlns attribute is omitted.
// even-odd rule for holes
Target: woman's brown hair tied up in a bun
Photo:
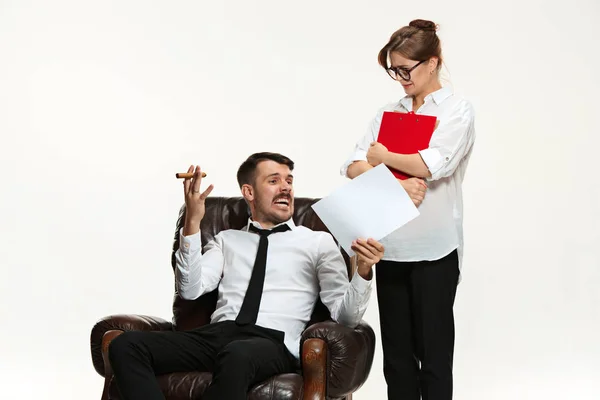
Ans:
<svg viewBox="0 0 600 400"><path fill-rule="evenodd" d="M392 34L389 42L379 51L378 60L385 70L390 68L390 53L400 53L404 57L424 61L431 57L438 58L437 70L442 67L442 46L435 33L437 25L431 21L415 19Z"/></svg>

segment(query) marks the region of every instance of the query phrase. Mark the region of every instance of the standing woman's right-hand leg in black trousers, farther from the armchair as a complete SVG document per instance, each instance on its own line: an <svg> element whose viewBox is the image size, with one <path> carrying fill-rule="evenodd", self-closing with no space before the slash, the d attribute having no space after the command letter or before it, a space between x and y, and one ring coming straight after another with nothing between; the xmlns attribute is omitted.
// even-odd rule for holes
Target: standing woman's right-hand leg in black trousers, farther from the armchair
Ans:
<svg viewBox="0 0 600 400"><path fill-rule="evenodd" d="M454 251L419 264L413 270L412 288L421 392L423 400L451 400L458 256Z"/></svg>

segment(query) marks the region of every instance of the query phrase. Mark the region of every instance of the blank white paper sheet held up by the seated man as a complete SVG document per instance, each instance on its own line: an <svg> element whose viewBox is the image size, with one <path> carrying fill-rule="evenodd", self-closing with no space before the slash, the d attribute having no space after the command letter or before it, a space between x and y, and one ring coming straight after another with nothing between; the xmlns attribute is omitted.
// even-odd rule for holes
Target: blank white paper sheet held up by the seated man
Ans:
<svg viewBox="0 0 600 400"><path fill-rule="evenodd" d="M408 193L384 164L337 188L312 208L350 256L354 240L381 240L419 216Z"/></svg>

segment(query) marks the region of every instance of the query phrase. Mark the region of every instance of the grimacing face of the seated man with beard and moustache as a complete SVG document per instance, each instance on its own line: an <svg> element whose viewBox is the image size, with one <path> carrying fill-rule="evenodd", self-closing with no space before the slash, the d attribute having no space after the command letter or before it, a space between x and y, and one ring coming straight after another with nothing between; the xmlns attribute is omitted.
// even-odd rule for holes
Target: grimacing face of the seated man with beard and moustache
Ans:
<svg viewBox="0 0 600 400"><path fill-rule="evenodd" d="M254 185L244 195L253 205L252 218L270 228L294 214L292 173L285 164L265 160L256 166ZM248 185L250 186L250 185Z"/></svg>

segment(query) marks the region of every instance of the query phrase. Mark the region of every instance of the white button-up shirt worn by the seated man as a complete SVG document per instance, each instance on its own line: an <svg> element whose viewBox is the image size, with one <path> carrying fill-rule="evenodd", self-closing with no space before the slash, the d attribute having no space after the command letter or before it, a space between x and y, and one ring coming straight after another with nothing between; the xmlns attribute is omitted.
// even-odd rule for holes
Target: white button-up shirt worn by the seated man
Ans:
<svg viewBox="0 0 600 400"><path fill-rule="evenodd" d="M218 287L211 322L235 320L242 302L259 235L248 230L219 232L201 251L200 233L183 236L176 257L176 286L188 300ZM357 273L348 281L346 264L333 237L287 223L291 230L269 235L265 282L256 324L285 333L285 345L299 357L300 337L310 320L317 296L337 322L355 327L361 321L371 294L371 281Z"/></svg>

